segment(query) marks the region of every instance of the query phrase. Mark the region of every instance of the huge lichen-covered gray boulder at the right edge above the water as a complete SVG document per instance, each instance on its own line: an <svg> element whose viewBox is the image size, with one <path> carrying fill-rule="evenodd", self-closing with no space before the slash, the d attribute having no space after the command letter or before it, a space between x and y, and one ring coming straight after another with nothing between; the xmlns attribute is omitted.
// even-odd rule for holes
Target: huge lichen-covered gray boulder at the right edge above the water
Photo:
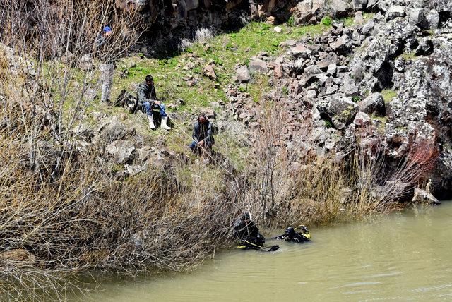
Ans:
<svg viewBox="0 0 452 302"><path fill-rule="evenodd" d="M405 68L398 97L388 103L386 133L403 130L418 140L439 145L439 159L432 171L435 188L452 191L452 41L448 34L433 38L433 54L420 56ZM445 194L444 194L445 195Z"/></svg>

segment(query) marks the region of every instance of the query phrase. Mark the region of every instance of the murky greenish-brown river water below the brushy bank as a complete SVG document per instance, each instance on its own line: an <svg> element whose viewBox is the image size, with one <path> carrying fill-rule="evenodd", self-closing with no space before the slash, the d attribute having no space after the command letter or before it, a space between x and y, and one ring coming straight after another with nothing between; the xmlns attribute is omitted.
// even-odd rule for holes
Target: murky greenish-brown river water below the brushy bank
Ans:
<svg viewBox="0 0 452 302"><path fill-rule="evenodd" d="M451 230L452 202L417 207L268 241L273 253L225 250L191 273L109 279L81 300L452 301Z"/></svg>

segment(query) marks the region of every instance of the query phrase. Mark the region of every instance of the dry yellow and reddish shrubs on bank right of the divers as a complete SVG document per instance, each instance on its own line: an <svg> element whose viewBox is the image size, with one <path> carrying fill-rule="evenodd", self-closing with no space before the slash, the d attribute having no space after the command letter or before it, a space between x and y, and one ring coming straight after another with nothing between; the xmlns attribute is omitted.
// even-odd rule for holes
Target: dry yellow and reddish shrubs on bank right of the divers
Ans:
<svg viewBox="0 0 452 302"><path fill-rule="evenodd" d="M397 209L438 157L434 143L410 140L394 167L388 147L378 139L362 145L358 131L357 145L338 160L335 152L316 154L309 118L298 123L286 145L288 113L263 102L261 116L251 160L258 164L248 167L243 207L270 227L343 222Z"/></svg>

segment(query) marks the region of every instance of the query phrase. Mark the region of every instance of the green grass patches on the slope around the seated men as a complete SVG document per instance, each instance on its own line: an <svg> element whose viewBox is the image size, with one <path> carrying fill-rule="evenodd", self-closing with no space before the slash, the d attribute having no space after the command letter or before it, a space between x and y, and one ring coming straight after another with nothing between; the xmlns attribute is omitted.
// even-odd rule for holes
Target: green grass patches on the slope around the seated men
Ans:
<svg viewBox="0 0 452 302"><path fill-rule="evenodd" d="M345 25L352 25L351 18L341 20ZM117 63L117 72L114 78L112 99L116 99L122 89L135 92L135 87L143 81L145 75L153 75L157 87L157 96L163 98L165 104L174 104L173 109L168 109L169 114L196 114L202 109L217 108L218 102L228 102L224 92L225 87L233 83L235 66L248 64L252 56L266 52L268 56L278 56L284 52L279 47L281 42L297 40L304 35L318 35L331 28L331 23L318 25L306 25L292 27L287 24L279 25L281 32L275 32L273 25L266 23L249 23L238 32L224 33L213 37L207 43L195 43L189 49L169 59L148 59L141 54L131 56ZM202 75L202 68L208 62L215 63L217 80L210 80ZM194 68L183 70L186 64L192 62ZM127 78L121 78L121 71L129 72ZM194 87L189 87L184 78L198 78ZM270 90L267 75L254 75L248 83L246 91L257 102L263 93ZM177 100L183 99L185 104L178 104ZM214 104L216 102L216 104ZM103 111L111 115L124 115L124 109L107 108L97 100L90 111ZM175 151L186 150L189 143L191 120L177 121L179 129L166 132L161 129L148 131L147 122L142 114L126 114L124 123L135 126L138 133L150 139L165 137L167 146ZM237 141L230 133L220 133L217 136L217 147L222 152L226 148L225 156L232 157L232 162L239 165L240 159L246 156L246 150L232 150L237 147Z"/></svg>

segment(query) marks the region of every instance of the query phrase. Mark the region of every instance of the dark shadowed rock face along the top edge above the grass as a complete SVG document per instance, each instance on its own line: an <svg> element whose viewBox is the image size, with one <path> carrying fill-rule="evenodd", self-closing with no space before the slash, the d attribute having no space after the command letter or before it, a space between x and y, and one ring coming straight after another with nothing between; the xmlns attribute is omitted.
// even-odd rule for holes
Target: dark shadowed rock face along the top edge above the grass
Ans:
<svg viewBox="0 0 452 302"><path fill-rule="evenodd" d="M198 28L233 30L249 20L283 22L290 16L292 0L116 0L118 8L140 11L145 29L141 52L174 52L183 38L193 39Z"/></svg>

